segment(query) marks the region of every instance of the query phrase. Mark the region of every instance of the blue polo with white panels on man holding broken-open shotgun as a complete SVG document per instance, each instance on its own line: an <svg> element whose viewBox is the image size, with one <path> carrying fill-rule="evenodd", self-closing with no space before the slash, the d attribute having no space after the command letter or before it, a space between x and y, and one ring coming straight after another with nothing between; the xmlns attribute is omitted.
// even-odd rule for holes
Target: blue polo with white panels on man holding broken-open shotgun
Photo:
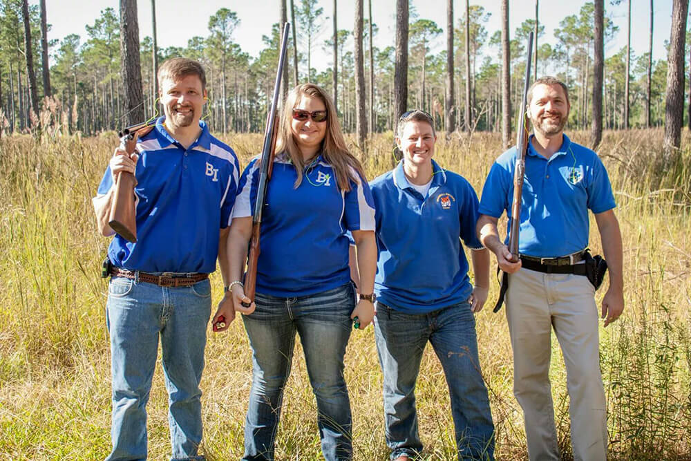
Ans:
<svg viewBox="0 0 691 461"><path fill-rule="evenodd" d="M240 165L233 150L209 133L189 147L163 126L137 142L135 176L137 243L115 235L108 247L114 265L144 272L214 272L219 229L227 227L235 203ZM111 169L98 187L113 187Z"/></svg>

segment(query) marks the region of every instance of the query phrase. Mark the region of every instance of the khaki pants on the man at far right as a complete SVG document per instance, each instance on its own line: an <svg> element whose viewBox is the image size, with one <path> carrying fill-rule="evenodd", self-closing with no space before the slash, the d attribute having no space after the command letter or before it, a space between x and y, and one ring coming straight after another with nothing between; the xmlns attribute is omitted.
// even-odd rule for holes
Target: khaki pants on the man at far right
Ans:
<svg viewBox="0 0 691 461"><path fill-rule="evenodd" d="M551 328L566 364L574 458L605 460L606 404L593 285L585 276L520 269L509 275L506 301L513 393L523 408L530 460L559 459L548 375Z"/></svg>

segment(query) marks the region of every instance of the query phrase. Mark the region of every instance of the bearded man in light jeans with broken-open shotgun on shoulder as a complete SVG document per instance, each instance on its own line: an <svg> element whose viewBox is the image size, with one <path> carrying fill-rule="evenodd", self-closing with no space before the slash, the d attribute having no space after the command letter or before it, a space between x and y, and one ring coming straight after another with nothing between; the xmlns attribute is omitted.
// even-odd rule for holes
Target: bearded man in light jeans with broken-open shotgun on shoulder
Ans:
<svg viewBox="0 0 691 461"><path fill-rule="evenodd" d="M172 458L203 458L199 382L211 314L209 273L216 270L217 256L227 283L225 241L238 159L200 121L206 78L198 62L170 59L158 80L165 117L138 140L131 158L115 150L94 198L100 231L113 235L107 225L113 178L122 171L135 174L138 241L115 235L108 247L113 266L106 311L113 387L108 460L146 458L146 402L159 337Z"/></svg>

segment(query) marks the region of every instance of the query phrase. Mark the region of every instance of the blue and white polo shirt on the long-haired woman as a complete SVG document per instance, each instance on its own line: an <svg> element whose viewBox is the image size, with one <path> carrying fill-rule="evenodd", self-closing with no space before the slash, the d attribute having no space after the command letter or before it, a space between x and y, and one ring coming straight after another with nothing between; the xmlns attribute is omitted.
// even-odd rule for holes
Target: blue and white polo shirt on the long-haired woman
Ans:
<svg viewBox="0 0 691 461"><path fill-rule="evenodd" d="M240 178L234 218L252 216L259 181L258 158ZM276 297L299 297L350 281L346 232L375 229L370 188L354 170L348 192L339 189L330 164L319 156L297 172L276 154L262 214L256 290Z"/></svg>

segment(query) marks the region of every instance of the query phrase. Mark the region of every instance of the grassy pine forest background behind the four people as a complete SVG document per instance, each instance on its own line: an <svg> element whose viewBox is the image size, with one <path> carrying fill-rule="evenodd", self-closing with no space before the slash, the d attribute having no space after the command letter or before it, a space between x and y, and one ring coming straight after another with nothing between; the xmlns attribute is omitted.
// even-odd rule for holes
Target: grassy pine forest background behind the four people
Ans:
<svg viewBox="0 0 691 461"><path fill-rule="evenodd" d="M74 33L63 37L52 37L51 18L79 7L47 3L0 0L0 459L107 454L107 287L97 267L108 242L96 235L90 199L117 144L115 133L157 113L158 63L193 57L207 69L205 120L247 164L261 149L278 23L289 18L297 27L284 94L308 80L328 88L369 178L392 166L398 115L419 107L433 113L439 129L437 161L478 191L494 158L515 137L525 39L537 32L533 75L551 73L569 85L567 130L603 158L622 225L626 310L600 330L610 457L691 459L688 0L578 3L556 19L547 2L447 0L435 10L444 9L445 23L427 19L421 5L406 0L390 0L388 19L380 20L385 2L377 0L372 15L370 2L357 0L348 2L352 15L336 18L336 27L324 1L276 0L258 3L254 15L218 8L200 28L185 21L189 3L153 0L138 8L134 0L120 0L111 8L104 3L84 24L73 22ZM329 3L341 12L337 1ZM189 31L186 44L158 44L155 8L177 10L176 21L158 28ZM546 8L552 9L542 13L548 27L540 19ZM520 19L509 22L515 11ZM238 34L256 17L275 20L250 53ZM496 17L500 21L493 22ZM153 35L134 30L144 20L151 21ZM629 45L632 30L647 36L647 47ZM595 228L591 234L598 251ZM218 274L213 281L215 302L222 283ZM496 293L493 284L491 299ZM489 309L477 316L498 459L520 459L525 440L511 395L505 323ZM279 459L319 458L314 399L299 357L285 399ZM556 341L553 357L558 433L568 459L568 399ZM202 380L209 459L240 456L251 366L241 322L209 338ZM356 458L384 460L381 373L371 329L353 334L347 367ZM428 458L453 458L448 395L429 350L417 396ZM153 459L169 453L166 408L158 367L149 403Z"/></svg>

